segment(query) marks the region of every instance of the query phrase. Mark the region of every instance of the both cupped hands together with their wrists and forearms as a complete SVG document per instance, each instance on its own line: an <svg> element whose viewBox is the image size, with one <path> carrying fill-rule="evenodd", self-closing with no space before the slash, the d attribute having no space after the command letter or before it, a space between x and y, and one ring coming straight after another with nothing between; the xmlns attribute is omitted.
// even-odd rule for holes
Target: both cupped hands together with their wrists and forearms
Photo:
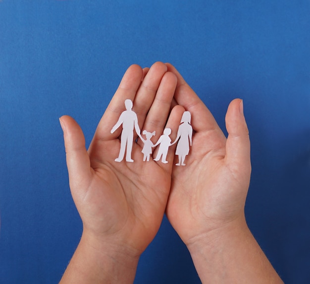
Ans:
<svg viewBox="0 0 310 284"><path fill-rule="evenodd" d="M114 162L121 128L111 129L133 101L139 128L165 128L171 141L184 111L192 114L192 147L186 166L143 161L143 142L133 144L134 163ZM155 237L164 212L187 245L203 283L282 283L248 229L244 205L250 182L250 140L243 102L227 110L228 139L213 116L170 64L125 72L88 149L69 116L60 118L70 190L83 234L61 284L133 283L141 253ZM134 141L138 138L134 133Z"/></svg>

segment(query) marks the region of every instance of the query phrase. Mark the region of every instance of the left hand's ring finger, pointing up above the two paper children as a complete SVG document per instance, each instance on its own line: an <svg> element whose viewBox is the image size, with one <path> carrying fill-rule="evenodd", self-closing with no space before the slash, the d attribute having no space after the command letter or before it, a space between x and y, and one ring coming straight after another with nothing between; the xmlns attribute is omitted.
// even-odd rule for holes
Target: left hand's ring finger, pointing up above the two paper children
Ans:
<svg viewBox="0 0 310 284"><path fill-rule="evenodd" d="M175 74L166 72L160 81L153 104L147 114L142 130L155 131L154 140L160 137L167 123L176 84Z"/></svg>

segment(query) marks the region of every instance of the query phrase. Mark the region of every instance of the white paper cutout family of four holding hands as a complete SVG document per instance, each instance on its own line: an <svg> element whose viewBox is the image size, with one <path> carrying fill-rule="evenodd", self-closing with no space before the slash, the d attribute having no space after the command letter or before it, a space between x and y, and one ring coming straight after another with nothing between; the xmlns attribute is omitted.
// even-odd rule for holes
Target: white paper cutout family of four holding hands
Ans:
<svg viewBox="0 0 310 284"><path fill-rule="evenodd" d="M131 151L133 145L134 138L134 130L138 134L141 141L144 143L142 148L143 153L143 161L150 161L150 155L152 154L152 148L159 145L157 155L155 157L155 161L159 161L161 158L162 163L167 163L166 160L168 148L178 142L175 154L179 157L179 162L176 164L177 166L185 166L184 160L188 155L190 146L192 145L192 135L193 128L191 126L191 113L189 111L185 111L181 118L181 124L178 128L177 137L174 142L171 143L171 139L169 135L171 134L170 128L165 128L163 134L159 137L158 141L154 144L151 141L151 138L155 136L155 131L148 132L144 130L142 132L145 135L146 139L144 139L140 134L140 128L138 125L138 118L136 113L132 110L133 103L130 99L125 100L125 108L116 122L116 124L111 129L111 133L114 133L120 126L122 126L122 134L120 137L120 150L119 155L115 159L116 162L121 162L125 155L126 150L126 161L133 162L134 160L131 158Z"/></svg>

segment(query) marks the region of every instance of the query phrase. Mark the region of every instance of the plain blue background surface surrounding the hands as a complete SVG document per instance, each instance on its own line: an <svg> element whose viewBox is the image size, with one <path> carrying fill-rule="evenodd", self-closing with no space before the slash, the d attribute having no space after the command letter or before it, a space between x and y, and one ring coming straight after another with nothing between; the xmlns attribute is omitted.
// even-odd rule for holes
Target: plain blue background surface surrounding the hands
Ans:
<svg viewBox="0 0 310 284"><path fill-rule="evenodd" d="M309 0L1 0L0 283L57 283L81 235L58 117L90 143L133 63L170 62L225 131L244 99L248 224L285 283L310 283ZM200 283L164 218L135 284Z"/></svg>

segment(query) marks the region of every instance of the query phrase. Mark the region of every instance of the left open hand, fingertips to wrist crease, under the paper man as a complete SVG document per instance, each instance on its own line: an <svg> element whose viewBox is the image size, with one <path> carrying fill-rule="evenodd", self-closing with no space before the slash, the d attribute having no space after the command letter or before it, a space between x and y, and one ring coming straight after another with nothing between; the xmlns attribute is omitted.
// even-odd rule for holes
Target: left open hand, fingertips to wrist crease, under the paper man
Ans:
<svg viewBox="0 0 310 284"><path fill-rule="evenodd" d="M99 238L123 243L140 254L155 237L165 211L171 184L173 153L169 163L143 161L143 142L133 144L133 163L115 162L121 127L112 127L133 101L140 130L155 131L156 142L164 127L175 128L179 115L167 117L177 79L163 63L151 69L131 66L101 119L88 152L82 130L70 117L60 119L64 129L70 189L84 230ZM137 138L134 137L134 140Z"/></svg>

